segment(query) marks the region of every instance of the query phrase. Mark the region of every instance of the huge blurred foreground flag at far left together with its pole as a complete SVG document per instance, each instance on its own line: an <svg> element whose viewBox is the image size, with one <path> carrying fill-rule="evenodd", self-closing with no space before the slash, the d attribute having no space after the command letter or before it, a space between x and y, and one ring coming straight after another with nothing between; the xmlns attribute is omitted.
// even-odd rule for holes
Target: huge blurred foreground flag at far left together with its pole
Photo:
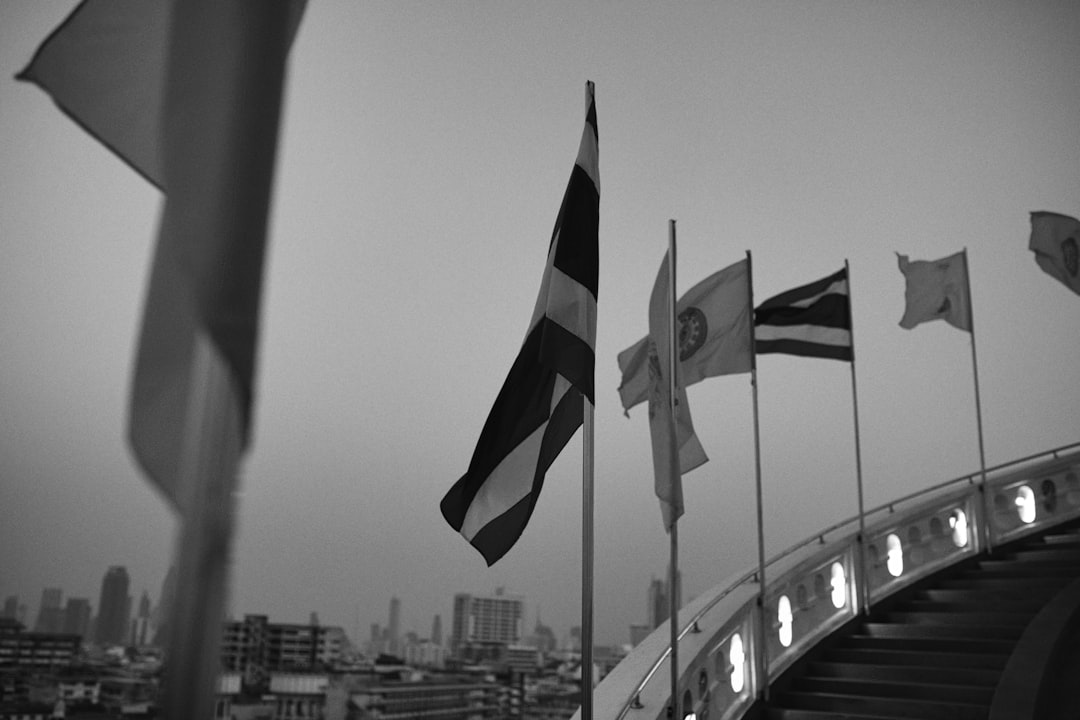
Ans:
<svg viewBox="0 0 1080 720"><path fill-rule="evenodd" d="M213 712L297 8L302 3L86 0L21 74L166 190L130 434L139 463L183 519L164 682L170 718Z"/></svg>

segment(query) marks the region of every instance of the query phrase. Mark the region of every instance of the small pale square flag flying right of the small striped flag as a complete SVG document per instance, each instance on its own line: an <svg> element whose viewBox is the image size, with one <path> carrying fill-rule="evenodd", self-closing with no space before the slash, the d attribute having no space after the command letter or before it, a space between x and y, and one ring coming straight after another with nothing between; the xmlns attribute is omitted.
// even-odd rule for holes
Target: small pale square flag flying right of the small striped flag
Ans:
<svg viewBox="0 0 1080 720"><path fill-rule="evenodd" d="M971 289L968 285L967 252L941 260L909 262L896 254L900 271L907 282L904 316L900 326L910 330L920 323L944 320L953 327L971 331Z"/></svg>

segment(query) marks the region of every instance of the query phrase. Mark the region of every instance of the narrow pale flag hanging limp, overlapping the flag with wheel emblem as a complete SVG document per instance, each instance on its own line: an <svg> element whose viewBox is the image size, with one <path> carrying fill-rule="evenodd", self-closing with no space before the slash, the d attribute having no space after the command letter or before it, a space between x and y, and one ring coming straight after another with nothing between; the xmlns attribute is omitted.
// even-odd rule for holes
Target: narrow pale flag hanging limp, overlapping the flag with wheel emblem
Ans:
<svg viewBox="0 0 1080 720"><path fill-rule="evenodd" d="M683 515L683 473L705 463L708 458L693 433L686 391L675 385L675 412L672 413L671 337L673 291L665 253L649 296L649 437L652 443L652 477L664 529L671 530Z"/></svg>

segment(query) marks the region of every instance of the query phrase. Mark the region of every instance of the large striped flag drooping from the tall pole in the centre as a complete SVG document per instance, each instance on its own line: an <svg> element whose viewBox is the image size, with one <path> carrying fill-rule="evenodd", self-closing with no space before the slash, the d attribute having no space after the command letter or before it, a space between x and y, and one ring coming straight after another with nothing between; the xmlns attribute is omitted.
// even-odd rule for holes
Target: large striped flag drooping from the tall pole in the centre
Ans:
<svg viewBox="0 0 1080 720"><path fill-rule="evenodd" d="M599 165L593 83L529 330L481 431L469 470L440 507L488 565L525 530L544 474L594 402Z"/></svg>

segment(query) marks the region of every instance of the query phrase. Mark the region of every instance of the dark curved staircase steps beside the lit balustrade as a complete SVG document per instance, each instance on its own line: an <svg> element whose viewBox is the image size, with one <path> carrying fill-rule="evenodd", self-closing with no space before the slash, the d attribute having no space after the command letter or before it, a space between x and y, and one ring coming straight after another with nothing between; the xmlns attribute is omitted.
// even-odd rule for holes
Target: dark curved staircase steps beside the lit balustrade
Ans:
<svg viewBox="0 0 1080 720"><path fill-rule="evenodd" d="M987 720L1035 615L1080 579L1080 524L930 576L809 652L770 690L769 720Z"/></svg>

